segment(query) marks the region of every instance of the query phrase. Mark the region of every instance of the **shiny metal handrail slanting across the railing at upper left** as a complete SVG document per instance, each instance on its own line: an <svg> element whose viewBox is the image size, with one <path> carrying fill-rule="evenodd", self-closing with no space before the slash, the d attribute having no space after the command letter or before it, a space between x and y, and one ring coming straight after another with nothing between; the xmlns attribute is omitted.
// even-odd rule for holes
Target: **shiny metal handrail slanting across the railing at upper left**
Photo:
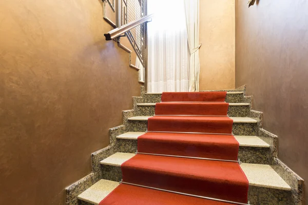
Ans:
<svg viewBox="0 0 308 205"><path fill-rule="evenodd" d="M113 38L119 37L129 31L130 29L133 29L143 23L150 22L154 14L146 15L142 18L139 18L137 20L134 20L133 22L130 22L128 24L125 24L119 28L113 29L109 31L108 33L105 33L104 36L106 37L106 40L112 40Z"/></svg>

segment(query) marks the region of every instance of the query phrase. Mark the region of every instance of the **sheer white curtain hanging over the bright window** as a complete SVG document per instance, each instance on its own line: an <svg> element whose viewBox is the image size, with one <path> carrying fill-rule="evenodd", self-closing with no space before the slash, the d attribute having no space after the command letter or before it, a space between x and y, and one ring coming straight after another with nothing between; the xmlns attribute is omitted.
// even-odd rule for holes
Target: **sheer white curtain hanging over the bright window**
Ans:
<svg viewBox="0 0 308 205"><path fill-rule="evenodd" d="M184 0L148 0L148 92L188 91L189 49Z"/></svg>

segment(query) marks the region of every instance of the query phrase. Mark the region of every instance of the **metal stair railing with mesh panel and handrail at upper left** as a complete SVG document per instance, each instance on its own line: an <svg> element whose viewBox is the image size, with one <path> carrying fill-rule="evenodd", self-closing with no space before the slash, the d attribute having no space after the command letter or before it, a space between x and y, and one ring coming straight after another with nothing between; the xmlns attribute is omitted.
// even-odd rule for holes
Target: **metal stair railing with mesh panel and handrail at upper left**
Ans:
<svg viewBox="0 0 308 205"><path fill-rule="evenodd" d="M114 0L105 0L116 15L115 29L105 33L106 40L115 40L118 45L126 51L130 51L120 43L120 38L126 36L136 53L139 62L130 67L139 70L140 80L146 87L146 67L147 67L147 22L151 21L153 14L147 15L147 0L115 0L117 3L114 8ZM108 20L107 17L105 20ZM112 22L111 22L112 23ZM114 23L112 23L114 25Z"/></svg>

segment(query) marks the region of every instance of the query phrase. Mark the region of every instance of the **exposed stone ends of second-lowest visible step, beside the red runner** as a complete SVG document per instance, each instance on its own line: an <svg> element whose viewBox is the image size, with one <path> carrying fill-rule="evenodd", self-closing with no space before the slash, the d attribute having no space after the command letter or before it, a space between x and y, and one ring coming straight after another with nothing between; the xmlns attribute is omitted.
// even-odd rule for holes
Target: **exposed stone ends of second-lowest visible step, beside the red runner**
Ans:
<svg viewBox="0 0 308 205"><path fill-rule="evenodd" d="M122 163L133 156L130 153L115 153L101 161L102 169L112 167L110 175L115 175L112 177L114 181L120 181ZM249 181L248 200L251 204L291 204L291 187L271 166L242 163L241 168Z"/></svg>

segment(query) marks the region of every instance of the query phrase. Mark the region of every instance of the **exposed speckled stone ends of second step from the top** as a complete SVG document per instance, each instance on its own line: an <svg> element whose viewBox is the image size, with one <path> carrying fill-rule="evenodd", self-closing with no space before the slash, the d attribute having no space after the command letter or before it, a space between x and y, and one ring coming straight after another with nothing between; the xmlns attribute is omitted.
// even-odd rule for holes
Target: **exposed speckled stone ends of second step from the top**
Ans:
<svg viewBox="0 0 308 205"><path fill-rule="evenodd" d="M137 104L137 115L153 116L155 115L155 103ZM228 115L231 117L247 117L250 111L249 103L230 103Z"/></svg>

